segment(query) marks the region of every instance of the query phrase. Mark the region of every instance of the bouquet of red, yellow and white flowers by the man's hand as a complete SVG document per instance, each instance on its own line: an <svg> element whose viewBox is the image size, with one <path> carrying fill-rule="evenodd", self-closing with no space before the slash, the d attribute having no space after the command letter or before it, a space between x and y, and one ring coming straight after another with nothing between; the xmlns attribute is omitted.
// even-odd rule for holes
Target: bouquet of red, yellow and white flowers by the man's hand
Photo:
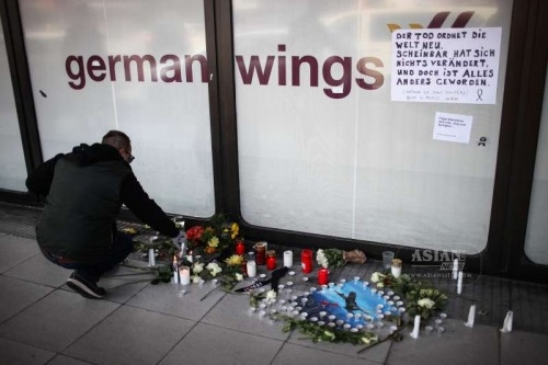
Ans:
<svg viewBox="0 0 548 365"><path fill-rule="evenodd" d="M213 216L208 224L194 226L186 230L186 240L190 249L202 249L206 254L222 252L233 247L240 239L240 226L228 220L225 215Z"/></svg>

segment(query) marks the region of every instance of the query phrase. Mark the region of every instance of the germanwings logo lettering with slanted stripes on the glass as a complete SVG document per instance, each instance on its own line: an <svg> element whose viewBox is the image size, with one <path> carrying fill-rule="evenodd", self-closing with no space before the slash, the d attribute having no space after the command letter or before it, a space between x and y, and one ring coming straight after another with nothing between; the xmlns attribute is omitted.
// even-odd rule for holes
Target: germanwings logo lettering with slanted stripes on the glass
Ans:
<svg viewBox="0 0 548 365"><path fill-rule="evenodd" d="M429 28L438 28L450 12L438 12ZM459 13L452 27L464 27L473 11ZM390 33L401 28L387 24ZM411 28L422 28L418 23ZM352 88L373 91L385 84L385 62L379 57L295 55L279 43L271 55L235 55L235 81L243 85L319 88L330 99L346 98ZM298 50L297 50L298 52ZM82 90L87 82L207 83L213 79L204 55L69 55L65 59L68 85Z"/></svg>

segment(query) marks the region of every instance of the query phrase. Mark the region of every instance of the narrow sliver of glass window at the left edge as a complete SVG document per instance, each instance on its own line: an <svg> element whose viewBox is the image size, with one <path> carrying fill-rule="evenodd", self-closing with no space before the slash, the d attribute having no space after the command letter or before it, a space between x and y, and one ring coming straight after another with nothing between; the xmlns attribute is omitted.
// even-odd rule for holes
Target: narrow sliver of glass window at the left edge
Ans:
<svg viewBox="0 0 548 365"><path fill-rule="evenodd" d="M3 28L0 28L0 189L25 192L26 167Z"/></svg>

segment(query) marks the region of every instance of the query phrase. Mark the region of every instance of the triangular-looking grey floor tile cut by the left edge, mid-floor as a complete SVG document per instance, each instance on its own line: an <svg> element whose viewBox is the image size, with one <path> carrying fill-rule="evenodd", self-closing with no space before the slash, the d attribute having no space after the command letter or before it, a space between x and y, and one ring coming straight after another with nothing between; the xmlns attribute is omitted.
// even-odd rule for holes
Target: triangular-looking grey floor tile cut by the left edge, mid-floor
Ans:
<svg viewBox="0 0 548 365"><path fill-rule="evenodd" d="M54 289L0 275L0 323L19 313Z"/></svg>

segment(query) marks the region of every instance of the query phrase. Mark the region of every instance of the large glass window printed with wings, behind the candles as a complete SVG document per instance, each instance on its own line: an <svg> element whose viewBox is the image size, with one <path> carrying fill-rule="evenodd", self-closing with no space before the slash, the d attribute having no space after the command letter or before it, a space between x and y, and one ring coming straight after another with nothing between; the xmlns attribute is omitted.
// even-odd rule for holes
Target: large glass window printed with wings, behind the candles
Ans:
<svg viewBox="0 0 548 365"><path fill-rule="evenodd" d="M235 1L243 218L482 251L511 12L511 0ZM426 27L501 28L495 103L391 100L391 31ZM471 117L468 141L433 138L437 113Z"/></svg>

